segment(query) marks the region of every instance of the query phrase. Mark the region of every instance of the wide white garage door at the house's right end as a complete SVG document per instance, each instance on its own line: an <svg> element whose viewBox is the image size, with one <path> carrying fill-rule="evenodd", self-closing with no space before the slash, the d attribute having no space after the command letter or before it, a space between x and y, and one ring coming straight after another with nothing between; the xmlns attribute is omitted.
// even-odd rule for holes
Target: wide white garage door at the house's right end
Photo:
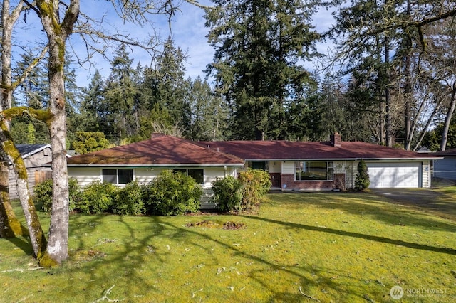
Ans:
<svg viewBox="0 0 456 303"><path fill-rule="evenodd" d="M367 164L370 188L415 188L420 184L420 162Z"/></svg>

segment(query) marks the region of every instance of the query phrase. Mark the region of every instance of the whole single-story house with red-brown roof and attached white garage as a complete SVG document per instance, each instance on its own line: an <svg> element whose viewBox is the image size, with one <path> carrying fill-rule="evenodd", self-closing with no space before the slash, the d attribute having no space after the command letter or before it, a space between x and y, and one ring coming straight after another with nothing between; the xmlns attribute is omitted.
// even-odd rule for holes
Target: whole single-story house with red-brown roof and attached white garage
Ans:
<svg viewBox="0 0 456 303"><path fill-rule="evenodd" d="M81 186L92 181L148 182L163 169L193 176L210 193L217 177L236 176L245 167L269 171L272 186L287 191L353 188L358 162L368 165L371 188L430 187L430 164L440 159L366 142L226 141L192 142L154 134L133 144L73 156L68 176Z"/></svg>

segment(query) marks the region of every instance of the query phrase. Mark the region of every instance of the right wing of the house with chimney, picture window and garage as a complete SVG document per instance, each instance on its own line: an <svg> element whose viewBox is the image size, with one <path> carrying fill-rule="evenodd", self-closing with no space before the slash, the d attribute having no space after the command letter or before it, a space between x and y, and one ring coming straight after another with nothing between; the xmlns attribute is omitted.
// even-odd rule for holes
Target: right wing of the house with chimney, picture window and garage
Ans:
<svg viewBox="0 0 456 303"><path fill-rule="evenodd" d="M353 188L358 161L368 165L370 188L430 187L430 163L436 156L366 142L228 141L202 142L233 154L246 166L269 171L272 186L289 191Z"/></svg>

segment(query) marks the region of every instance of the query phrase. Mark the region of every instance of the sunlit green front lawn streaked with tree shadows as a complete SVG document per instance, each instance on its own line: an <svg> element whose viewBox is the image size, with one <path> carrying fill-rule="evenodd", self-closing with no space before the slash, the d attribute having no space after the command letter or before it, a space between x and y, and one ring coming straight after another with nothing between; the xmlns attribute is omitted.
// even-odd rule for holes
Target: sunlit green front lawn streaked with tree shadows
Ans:
<svg viewBox="0 0 456 303"><path fill-rule="evenodd" d="M277 193L249 216L72 215L61 267L33 270L26 239L0 239L0 302L455 302L456 221L384 199Z"/></svg>

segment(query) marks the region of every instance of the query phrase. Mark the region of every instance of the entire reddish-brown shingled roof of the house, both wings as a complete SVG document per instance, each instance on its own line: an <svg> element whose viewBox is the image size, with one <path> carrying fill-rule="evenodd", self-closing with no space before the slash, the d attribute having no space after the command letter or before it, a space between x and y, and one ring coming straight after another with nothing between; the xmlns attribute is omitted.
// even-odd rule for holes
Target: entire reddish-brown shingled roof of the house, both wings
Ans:
<svg viewBox="0 0 456 303"><path fill-rule="evenodd" d="M67 159L68 166L241 166L244 160L435 159L432 154L366 142L218 141L191 142L160 136Z"/></svg>

